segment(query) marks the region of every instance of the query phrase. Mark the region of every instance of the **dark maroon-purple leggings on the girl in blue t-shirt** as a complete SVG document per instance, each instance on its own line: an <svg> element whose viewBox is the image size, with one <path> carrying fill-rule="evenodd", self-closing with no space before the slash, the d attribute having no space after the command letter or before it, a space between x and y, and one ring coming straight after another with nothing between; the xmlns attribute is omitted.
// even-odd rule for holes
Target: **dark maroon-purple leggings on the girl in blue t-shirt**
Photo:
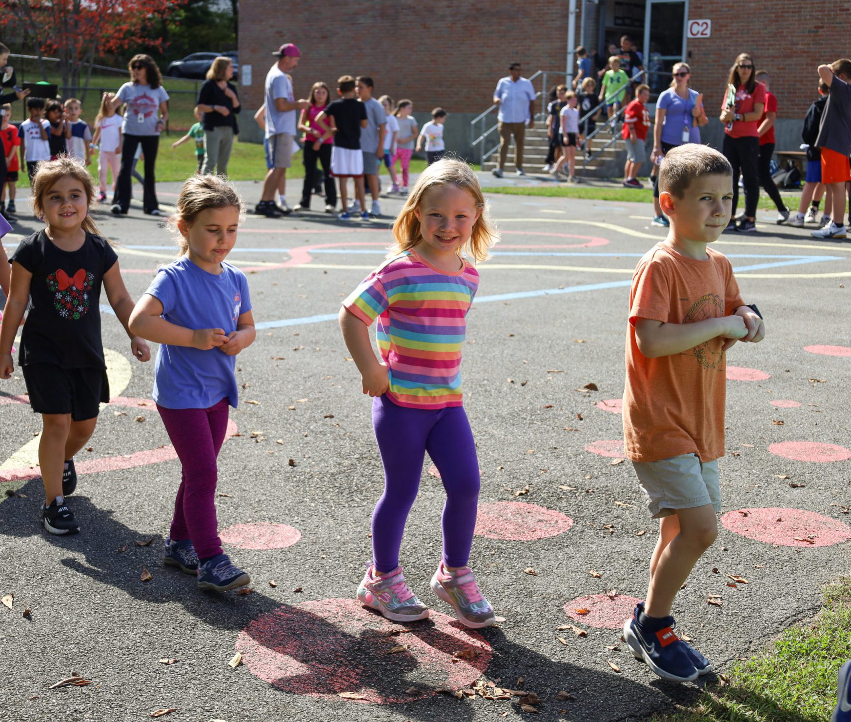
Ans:
<svg viewBox="0 0 851 722"><path fill-rule="evenodd" d="M199 559L221 554L215 518L216 457L225 441L227 399L207 409L167 409L157 404L157 411L183 464L169 536L175 541L191 539Z"/></svg>

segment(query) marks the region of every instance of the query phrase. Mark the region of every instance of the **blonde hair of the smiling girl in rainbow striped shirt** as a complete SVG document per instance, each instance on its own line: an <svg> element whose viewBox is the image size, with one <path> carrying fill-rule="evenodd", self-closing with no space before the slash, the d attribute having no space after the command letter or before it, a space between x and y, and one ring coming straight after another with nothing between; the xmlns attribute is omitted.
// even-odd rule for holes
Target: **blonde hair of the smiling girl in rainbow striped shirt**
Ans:
<svg viewBox="0 0 851 722"><path fill-rule="evenodd" d="M477 262L487 260L488 249L500 240L500 236L489 217L488 204L484 200L482 187L470 166L455 158L447 157L432 163L420 173L420 178L414 184L408 200L393 224L393 245L390 248L390 256L407 251L423 240L420 219L414 211L420 207L426 190L441 185L454 185L456 188L466 190L472 196L479 211L479 217L473 225L469 240L459 250Z"/></svg>

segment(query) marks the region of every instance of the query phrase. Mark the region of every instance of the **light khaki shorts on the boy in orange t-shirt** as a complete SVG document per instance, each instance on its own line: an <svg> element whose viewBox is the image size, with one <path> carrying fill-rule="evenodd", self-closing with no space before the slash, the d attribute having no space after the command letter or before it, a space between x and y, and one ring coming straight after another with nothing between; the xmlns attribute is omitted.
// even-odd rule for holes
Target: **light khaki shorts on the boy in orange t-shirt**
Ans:
<svg viewBox="0 0 851 722"><path fill-rule="evenodd" d="M721 511L717 460L701 463L697 454L683 454L661 461L634 461L632 466L654 519L670 516L674 509L705 504L711 504L716 513Z"/></svg>

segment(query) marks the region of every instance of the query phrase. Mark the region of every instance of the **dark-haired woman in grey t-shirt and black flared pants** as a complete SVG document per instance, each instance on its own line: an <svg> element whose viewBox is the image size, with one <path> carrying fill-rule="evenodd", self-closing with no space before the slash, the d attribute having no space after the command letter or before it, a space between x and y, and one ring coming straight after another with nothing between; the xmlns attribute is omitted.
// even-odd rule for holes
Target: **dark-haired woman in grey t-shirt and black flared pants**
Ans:
<svg viewBox="0 0 851 722"><path fill-rule="evenodd" d="M126 215L130 208L131 174L136 149L141 145L145 157L145 195L142 209L148 215L164 216L157 202L154 166L157 162L159 134L168 122L168 93L163 77L150 55L134 55L129 63L130 82L125 82L109 101L113 108L127 103L122 124L123 145L121 170L118 171L118 202L111 208L113 215Z"/></svg>

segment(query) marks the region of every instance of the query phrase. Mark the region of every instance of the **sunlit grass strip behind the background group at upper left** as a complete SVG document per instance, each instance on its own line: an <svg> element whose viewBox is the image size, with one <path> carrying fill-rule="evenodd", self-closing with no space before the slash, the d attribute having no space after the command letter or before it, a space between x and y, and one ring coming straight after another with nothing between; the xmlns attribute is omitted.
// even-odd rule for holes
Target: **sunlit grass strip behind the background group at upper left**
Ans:
<svg viewBox="0 0 851 722"><path fill-rule="evenodd" d="M192 173L195 173L197 161L195 159L195 143L186 141L183 145L172 148L171 144L175 140L180 139L181 135L172 133L170 135L160 136L159 152L157 153L157 181L181 181L186 180ZM141 162L137 166L142 172ZM418 158L411 159L411 173L421 173L423 168L426 168L426 161ZM98 159L96 151L92 156L92 164L89 166L89 172L94 178L98 174ZM231 180L262 180L266 176L266 153L263 146L259 143L240 143L233 144L231 151L231 160L227 166L228 176ZM387 169L382 166L381 174L386 176ZM287 171L288 179L300 179L305 177L305 167L301 163L301 152L293 156L293 166ZM20 178L17 183L18 188L29 187L29 180L26 178L26 172L20 173ZM299 185L299 188L301 186ZM294 189L288 187L288 192Z"/></svg>

